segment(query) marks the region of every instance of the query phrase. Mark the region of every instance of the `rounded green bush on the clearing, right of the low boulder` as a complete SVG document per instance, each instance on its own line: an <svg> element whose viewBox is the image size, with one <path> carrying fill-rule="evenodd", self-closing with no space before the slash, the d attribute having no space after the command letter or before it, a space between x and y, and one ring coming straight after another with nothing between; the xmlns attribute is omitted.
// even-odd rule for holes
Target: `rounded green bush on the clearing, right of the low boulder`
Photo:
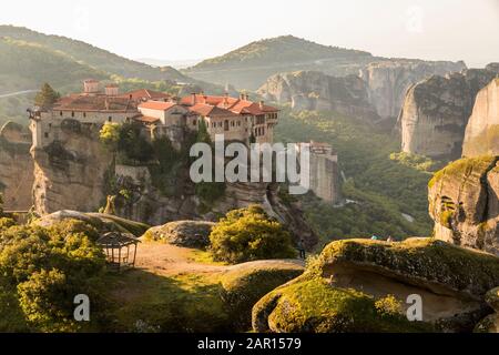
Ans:
<svg viewBox="0 0 499 355"><path fill-rule="evenodd" d="M296 255L289 233L256 205L228 212L213 229L210 242L214 260L222 262L242 263Z"/></svg>

